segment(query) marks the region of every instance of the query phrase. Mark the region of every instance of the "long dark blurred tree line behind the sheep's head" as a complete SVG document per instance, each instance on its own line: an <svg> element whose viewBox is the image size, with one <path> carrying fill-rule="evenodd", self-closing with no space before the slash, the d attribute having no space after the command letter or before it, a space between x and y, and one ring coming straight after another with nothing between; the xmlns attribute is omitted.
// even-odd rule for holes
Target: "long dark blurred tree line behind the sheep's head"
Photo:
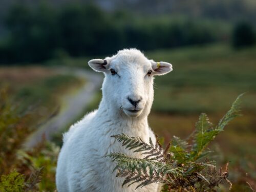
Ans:
<svg viewBox="0 0 256 192"><path fill-rule="evenodd" d="M106 12L94 5L14 4L5 19L8 36L0 39L0 62L39 62L63 56L113 54L206 44L225 36L214 20L135 16ZM224 30L225 31L225 30ZM1 43L1 41L3 41Z"/></svg>

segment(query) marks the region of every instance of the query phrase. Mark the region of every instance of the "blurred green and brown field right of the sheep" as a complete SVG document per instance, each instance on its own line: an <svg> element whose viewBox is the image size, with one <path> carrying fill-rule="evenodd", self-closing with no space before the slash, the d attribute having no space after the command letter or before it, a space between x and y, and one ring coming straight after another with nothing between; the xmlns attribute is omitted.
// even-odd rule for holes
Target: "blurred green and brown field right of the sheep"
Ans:
<svg viewBox="0 0 256 192"><path fill-rule="evenodd" d="M155 99L149 117L153 130L166 141L186 138L201 112L216 124L241 93L242 117L216 138L216 160L230 162L231 191L250 191L256 185L256 48L232 50L224 45L148 52L168 61L174 71L155 80ZM216 155L216 154L215 154Z"/></svg>

